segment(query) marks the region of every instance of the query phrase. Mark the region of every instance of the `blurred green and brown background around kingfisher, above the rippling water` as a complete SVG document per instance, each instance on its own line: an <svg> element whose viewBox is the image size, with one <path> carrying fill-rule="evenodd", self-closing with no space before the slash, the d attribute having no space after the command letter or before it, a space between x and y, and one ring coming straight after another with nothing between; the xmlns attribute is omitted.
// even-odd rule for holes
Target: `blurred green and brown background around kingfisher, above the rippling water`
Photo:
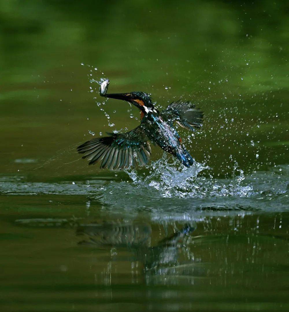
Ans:
<svg viewBox="0 0 289 312"><path fill-rule="evenodd" d="M189 150L216 174L231 174L235 160L249 172L288 157L285 1L2 0L0 7L0 173L51 158L60 166L46 165L46 178L98 172L70 163L77 143L90 130L98 136L139 123L127 103L96 105L103 99L89 79L100 77L109 77L110 92L149 92L162 107L193 100L205 124Z"/></svg>

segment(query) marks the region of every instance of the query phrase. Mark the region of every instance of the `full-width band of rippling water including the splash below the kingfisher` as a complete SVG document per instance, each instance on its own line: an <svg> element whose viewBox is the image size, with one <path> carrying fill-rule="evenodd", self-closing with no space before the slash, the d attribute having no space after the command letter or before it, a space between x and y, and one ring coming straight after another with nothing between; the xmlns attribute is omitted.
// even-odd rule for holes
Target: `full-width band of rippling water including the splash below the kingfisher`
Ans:
<svg viewBox="0 0 289 312"><path fill-rule="evenodd" d="M112 207L148 208L160 212L282 211L288 207L289 165L244 175L235 163L232 178L207 178L210 168L167 163L166 155L147 167L147 175L127 171L131 181L93 178L58 183L26 182L24 177L0 177L0 194L89 195ZM204 175L206 173L206 176ZM163 216L165 217L165 216Z"/></svg>

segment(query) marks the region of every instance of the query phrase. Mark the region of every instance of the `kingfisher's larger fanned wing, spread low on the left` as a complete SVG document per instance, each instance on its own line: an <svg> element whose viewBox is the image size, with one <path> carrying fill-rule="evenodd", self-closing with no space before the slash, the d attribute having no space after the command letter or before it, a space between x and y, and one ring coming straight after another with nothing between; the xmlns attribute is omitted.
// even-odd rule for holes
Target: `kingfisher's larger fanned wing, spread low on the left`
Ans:
<svg viewBox="0 0 289 312"><path fill-rule="evenodd" d="M101 162L100 168L127 169L147 164L151 147L141 126L124 134L108 133L109 137L92 139L78 146L77 151L84 154L89 164Z"/></svg>

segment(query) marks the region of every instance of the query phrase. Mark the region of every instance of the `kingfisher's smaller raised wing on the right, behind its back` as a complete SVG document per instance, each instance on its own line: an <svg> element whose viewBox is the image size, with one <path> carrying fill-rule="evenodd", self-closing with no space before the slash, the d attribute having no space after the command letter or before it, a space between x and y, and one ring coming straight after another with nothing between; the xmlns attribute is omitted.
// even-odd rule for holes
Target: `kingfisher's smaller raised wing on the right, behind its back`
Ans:
<svg viewBox="0 0 289 312"><path fill-rule="evenodd" d="M161 114L171 122L176 121L180 126L194 131L200 128L203 122L203 112L191 102L179 100L172 102Z"/></svg>

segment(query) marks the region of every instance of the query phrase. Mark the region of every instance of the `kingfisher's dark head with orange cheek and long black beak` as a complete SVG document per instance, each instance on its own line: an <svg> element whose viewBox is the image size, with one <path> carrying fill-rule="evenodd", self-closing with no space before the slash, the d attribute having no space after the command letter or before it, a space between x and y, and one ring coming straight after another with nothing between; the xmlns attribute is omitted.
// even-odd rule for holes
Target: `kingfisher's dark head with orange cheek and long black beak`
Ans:
<svg viewBox="0 0 289 312"><path fill-rule="evenodd" d="M141 91L133 91L129 93L111 93L104 96L112 99L127 101L138 107L145 114L148 113L149 110L154 109L150 95Z"/></svg>

